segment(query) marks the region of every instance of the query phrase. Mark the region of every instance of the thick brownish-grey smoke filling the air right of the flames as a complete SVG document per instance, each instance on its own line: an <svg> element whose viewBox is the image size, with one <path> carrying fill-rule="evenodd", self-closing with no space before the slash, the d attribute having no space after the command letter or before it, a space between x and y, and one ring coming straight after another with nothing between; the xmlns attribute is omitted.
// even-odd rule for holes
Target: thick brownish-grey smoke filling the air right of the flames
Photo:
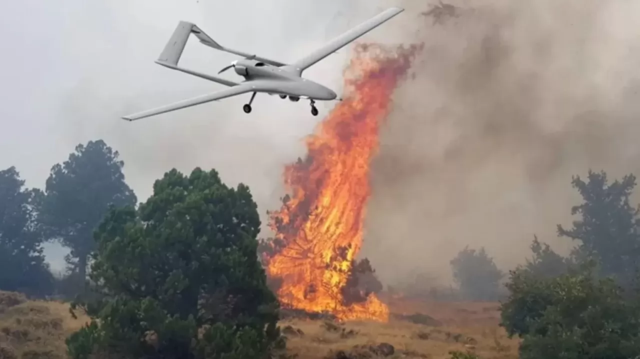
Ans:
<svg viewBox="0 0 640 359"><path fill-rule="evenodd" d="M362 255L395 283L448 282L467 244L503 269L534 234L566 253L572 175L640 168L640 3L456 1L439 21L401 4L389 36L425 50L382 130Z"/></svg>

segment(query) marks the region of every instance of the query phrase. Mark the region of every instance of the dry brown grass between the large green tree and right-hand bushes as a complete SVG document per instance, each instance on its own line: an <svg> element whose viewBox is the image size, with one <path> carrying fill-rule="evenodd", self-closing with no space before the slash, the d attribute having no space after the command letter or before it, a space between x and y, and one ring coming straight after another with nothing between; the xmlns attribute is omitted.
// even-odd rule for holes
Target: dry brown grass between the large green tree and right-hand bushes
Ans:
<svg viewBox="0 0 640 359"><path fill-rule="evenodd" d="M484 359L518 358L518 341L508 339L504 330L497 325L499 312L495 303L413 304L403 303L399 307L408 308L410 313L419 311L428 314L444 324L434 327L397 320L386 324L351 322L335 330L318 321L283 321L283 327L289 325L304 333L287 335L287 348L301 359L340 358L340 355L336 355L339 351L347 355L354 352L348 358L376 358L363 353L358 356L358 347L382 342L396 348L392 358L444 359L451 357L449 351L456 350L472 351ZM350 331L354 333L343 334Z"/></svg>

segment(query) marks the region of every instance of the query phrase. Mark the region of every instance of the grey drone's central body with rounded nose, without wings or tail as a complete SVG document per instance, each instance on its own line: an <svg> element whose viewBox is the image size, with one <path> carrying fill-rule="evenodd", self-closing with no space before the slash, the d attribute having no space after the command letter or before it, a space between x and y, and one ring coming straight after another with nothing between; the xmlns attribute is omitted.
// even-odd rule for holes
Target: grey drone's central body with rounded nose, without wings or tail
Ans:
<svg viewBox="0 0 640 359"><path fill-rule="evenodd" d="M275 67L255 60L240 60L234 65L236 74L255 84L256 92L330 101L337 95L330 88L298 76L287 67Z"/></svg>

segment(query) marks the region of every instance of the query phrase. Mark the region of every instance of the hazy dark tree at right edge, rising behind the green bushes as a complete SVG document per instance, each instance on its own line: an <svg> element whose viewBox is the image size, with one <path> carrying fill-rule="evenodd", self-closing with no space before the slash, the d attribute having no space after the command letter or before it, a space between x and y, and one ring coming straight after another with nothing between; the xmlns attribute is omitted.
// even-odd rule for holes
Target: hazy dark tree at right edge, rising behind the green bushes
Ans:
<svg viewBox="0 0 640 359"><path fill-rule="evenodd" d="M558 235L579 241L572 253L577 261L596 259L600 275L614 276L621 285L630 287L640 259L639 209L629 201L636 177L626 175L611 184L605 172L589 171L587 177L587 182L573 177L572 185L583 202L573 206L571 212L579 214L580 219L568 230L558 225Z"/></svg>

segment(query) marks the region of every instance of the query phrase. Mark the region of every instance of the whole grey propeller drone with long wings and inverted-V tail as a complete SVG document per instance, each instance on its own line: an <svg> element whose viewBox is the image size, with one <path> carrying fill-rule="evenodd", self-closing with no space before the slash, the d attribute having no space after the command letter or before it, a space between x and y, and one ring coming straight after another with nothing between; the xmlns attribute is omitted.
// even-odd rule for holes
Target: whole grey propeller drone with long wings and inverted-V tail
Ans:
<svg viewBox="0 0 640 359"><path fill-rule="evenodd" d="M249 102L243 106L244 113L251 113L253 99L255 99L255 95L259 92L268 93L269 95L279 95L283 100L288 97L292 102L298 102L300 99L308 99L310 100L311 114L313 116L317 116L318 110L316 108L316 100L331 101L340 99L338 99L333 90L326 88L319 83L303 78L302 72L403 11L403 8L388 8L384 12L381 12L371 19L362 22L362 24L346 31L346 33L337 36L323 47L316 49L310 54L307 54L307 56L290 64L269 60L268 58L263 58L243 51L229 49L228 47L224 47L218 44L218 42L212 40L209 35L205 34L204 31L198 28L195 24L187 21L180 21L159 58L155 62L158 65L171 68L172 70L178 70L186 74L213 81L214 83L223 84L228 88L218 92L209 93L207 95L202 95L200 97L195 97L193 99L182 100L159 108L123 116L122 118L127 121L139 120L140 118L160 115L162 113L189 108L191 106L205 104L207 102L227 99L228 97L234 97L244 93L252 93ZM233 68L236 71L236 74L244 77L244 81L236 83L221 77L211 76L202 72L189 70L188 68L179 67L178 62L180 61L180 56L182 56L184 47L186 46L191 34L195 35L196 38L200 40L200 43L212 47L213 49L242 56L242 60L233 61L231 65L220 70L218 74L222 74L230 68Z"/></svg>

